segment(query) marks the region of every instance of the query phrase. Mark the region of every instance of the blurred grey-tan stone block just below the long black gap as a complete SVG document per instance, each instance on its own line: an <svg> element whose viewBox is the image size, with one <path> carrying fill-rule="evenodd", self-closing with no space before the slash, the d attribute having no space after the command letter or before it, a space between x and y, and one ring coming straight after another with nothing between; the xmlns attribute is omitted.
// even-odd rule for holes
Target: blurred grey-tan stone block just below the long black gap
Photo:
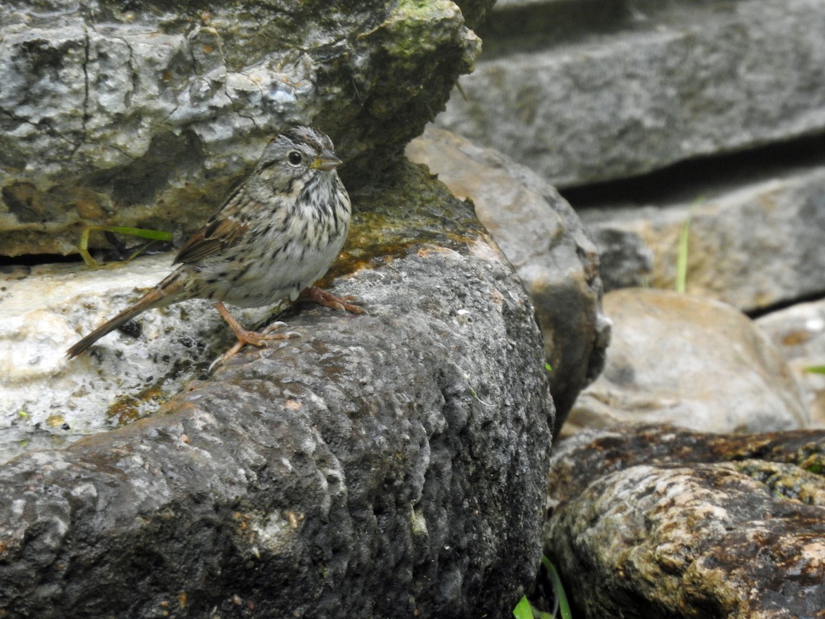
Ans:
<svg viewBox="0 0 825 619"><path fill-rule="evenodd" d="M660 206L580 213L597 241L623 236L625 255L648 248L653 254L648 282L656 288L673 288L679 232L689 222L686 291L744 311L825 293L825 167ZM611 264L619 272L610 272ZM606 262L605 279L632 280L631 269L627 260ZM639 270L637 277L642 276Z"/></svg>

